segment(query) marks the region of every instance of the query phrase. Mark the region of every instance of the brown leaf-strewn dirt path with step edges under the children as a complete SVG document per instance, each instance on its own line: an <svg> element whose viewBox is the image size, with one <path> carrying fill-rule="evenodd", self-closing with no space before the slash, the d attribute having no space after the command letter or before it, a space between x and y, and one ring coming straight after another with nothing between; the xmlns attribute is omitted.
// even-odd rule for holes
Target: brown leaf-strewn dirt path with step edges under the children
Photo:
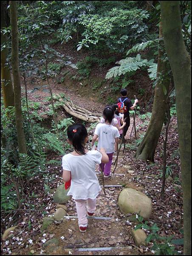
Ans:
<svg viewBox="0 0 192 256"><path fill-rule="evenodd" d="M116 156L114 156L114 159ZM59 245L50 245L43 249L46 255L140 255L140 250L134 246L131 236L131 230L134 223L127 220L124 214L121 214L118 207L119 194L124 189L125 184L129 184L129 188L143 191L142 186L132 182L135 173L128 173L128 169L124 164L130 164L127 157L120 152L118 167L113 173L110 180L105 181L106 185L111 187L105 188L106 195L103 190L97 197L96 212L93 218L88 218L88 229L86 233L79 232L78 219L76 218L75 202L68 201L68 215L75 216L65 218L61 224L52 224L47 230L51 236L59 240ZM130 166L129 169L132 167ZM114 166L112 166L112 172ZM102 185L102 178L99 172L99 166L96 168L99 183ZM121 187L114 187L119 185ZM123 185L123 186L122 186ZM97 219L98 217L109 219ZM64 237L64 239L63 239ZM80 249L78 248L80 247ZM85 249L87 248L87 249ZM87 250L87 251L82 251ZM148 253L150 255L152 253Z"/></svg>

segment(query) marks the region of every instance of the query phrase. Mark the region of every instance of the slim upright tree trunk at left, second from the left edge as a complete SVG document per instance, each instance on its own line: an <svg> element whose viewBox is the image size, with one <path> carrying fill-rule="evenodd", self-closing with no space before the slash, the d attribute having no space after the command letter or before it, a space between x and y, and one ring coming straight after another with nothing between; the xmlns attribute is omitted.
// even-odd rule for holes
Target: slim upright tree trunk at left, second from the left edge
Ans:
<svg viewBox="0 0 192 256"><path fill-rule="evenodd" d="M20 153L27 153L25 145L25 135L23 131L23 117L21 110L21 81L19 70L19 44L17 28L17 1L10 1L11 17L11 58L14 81L14 102L15 102L15 121L17 128L17 141Z"/></svg>

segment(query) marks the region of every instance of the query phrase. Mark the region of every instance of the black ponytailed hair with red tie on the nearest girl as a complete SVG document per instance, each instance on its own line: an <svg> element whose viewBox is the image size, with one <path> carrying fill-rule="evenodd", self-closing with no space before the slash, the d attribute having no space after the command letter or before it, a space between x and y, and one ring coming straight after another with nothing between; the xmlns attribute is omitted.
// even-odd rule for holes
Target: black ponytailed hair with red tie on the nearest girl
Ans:
<svg viewBox="0 0 192 256"><path fill-rule="evenodd" d="M70 125L68 127L68 140L70 140L73 144L75 151L78 154L86 154L85 153L85 138L88 136L87 129L84 125L78 123L75 125Z"/></svg>

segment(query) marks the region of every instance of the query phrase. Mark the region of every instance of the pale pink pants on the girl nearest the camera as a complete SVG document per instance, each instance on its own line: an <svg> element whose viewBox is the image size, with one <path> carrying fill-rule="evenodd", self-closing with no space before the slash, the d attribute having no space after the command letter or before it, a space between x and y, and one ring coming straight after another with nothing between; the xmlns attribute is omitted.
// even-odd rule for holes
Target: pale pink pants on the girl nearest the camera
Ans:
<svg viewBox="0 0 192 256"><path fill-rule="evenodd" d="M86 201L88 212L93 213L96 210L96 198L88 198L87 200L75 199L79 227L87 227L88 225L87 211L85 207Z"/></svg>

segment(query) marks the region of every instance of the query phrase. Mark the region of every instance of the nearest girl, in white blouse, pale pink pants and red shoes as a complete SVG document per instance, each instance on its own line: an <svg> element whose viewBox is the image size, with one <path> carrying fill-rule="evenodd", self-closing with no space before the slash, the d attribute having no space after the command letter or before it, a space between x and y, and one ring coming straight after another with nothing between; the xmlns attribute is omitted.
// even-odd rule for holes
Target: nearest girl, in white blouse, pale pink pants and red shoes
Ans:
<svg viewBox="0 0 192 256"><path fill-rule="evenodd" d="M88 142L88 132L82 124L68 127L68 143L74 150L62 157L63 180L71 178L71 187L67 195L72 195L76 203L79 230L85 232L88 225L85 202L87 201L88 215L92 216L96 209L96 196L101 187L96 176L96 163L108 163L109 158L104 148L100 152L88 151L85 144Z"/></svg>

